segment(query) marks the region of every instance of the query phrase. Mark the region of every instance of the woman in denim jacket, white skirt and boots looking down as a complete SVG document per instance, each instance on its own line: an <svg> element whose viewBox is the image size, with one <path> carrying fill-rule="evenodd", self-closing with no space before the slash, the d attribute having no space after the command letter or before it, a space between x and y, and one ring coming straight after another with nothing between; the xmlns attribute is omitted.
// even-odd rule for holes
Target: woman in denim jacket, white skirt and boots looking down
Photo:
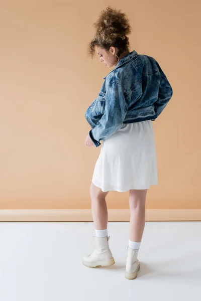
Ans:
<svg viewBox="0 0 201 301"><path fill-rule="evenodd" d="M130 228L125 277L135 279L137 259L145 226L145 201L150 185L157 185L154 121L172 97L172 88L157 61L129 51L128 18L108 7L94 24L95 36L89 54L96 50L107 67L114 69L104 78L97 98L85 112L91 130L85 145L98 147L90 186L95 226L95 249L82 259L88 267L115 263L109 247L109 191L129 191Z"/></svg>

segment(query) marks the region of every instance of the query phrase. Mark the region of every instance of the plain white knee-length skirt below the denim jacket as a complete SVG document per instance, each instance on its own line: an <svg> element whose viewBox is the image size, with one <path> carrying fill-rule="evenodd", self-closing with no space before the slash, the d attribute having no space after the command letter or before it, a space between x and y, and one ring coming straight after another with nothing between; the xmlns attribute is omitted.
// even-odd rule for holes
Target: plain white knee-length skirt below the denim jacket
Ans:
<svg viewBox="0 0 201 301"><path fill-rule="evenodd" d="M157 185L157 160L151 120L124 123L102 141L92 183L103 192L148 189Z"/></svg>

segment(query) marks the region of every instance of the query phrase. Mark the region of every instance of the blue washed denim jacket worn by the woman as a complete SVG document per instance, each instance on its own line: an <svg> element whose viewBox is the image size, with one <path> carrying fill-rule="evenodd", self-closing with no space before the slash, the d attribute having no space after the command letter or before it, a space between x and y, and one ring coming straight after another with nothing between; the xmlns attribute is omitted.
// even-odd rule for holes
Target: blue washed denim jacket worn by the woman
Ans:
<svg viewBox="0 0 201 301"><path fill-rule="evenodd" d="M172 87L158 62L135 50L104 78L97 98L85 112L96 147L123 123L154 121L172 97Z"/></svg>

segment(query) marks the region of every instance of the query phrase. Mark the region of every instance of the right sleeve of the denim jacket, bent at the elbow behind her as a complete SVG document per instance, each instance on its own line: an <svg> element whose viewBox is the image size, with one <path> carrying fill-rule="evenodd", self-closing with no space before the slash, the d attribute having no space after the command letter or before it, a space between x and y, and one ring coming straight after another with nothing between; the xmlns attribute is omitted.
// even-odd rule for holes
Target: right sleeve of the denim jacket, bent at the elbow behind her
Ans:
<svg viewBox="0 0 201 301"><path fill-rule="evenodd" d="M170 98L172 97L172 87L170 86L170 83L167 80L167 77L165 76L164 72L160 68L158 62L156 62L156 64L160 72L160 86L158 91L158 99L154 103L156 118L157 118L164 110Z"/></svg>

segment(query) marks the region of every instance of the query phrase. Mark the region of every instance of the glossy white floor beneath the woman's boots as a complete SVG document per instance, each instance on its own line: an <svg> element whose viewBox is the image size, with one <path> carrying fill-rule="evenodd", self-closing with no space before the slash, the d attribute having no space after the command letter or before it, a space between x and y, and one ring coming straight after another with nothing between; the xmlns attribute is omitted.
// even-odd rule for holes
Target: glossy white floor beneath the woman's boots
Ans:
<svg viewBox="0 0 201 301"><path fill-rule="evenodd" d="M201 299L201 222L146 222L135 280L124 278L129 223L108 229L116 264L87 268L92 222L0 223L0 300Z"/></svg>

